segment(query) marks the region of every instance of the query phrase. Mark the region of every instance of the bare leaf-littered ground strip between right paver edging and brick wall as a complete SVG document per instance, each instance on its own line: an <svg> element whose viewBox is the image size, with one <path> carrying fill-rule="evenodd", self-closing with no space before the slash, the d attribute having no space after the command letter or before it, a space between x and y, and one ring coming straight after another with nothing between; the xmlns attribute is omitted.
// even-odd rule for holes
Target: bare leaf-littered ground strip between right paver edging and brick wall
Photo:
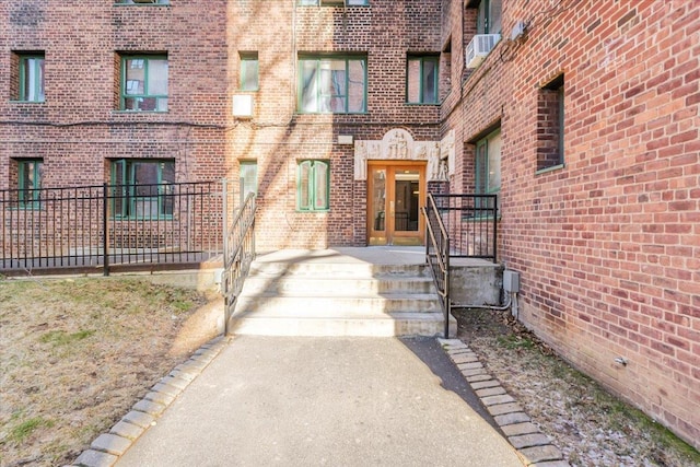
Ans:
<svg viewBox="0 0 700 467"><path fill-rule="evenodd" d="M573 370L509 312L459 311L458 337L572 466L700 466L700 454Z"/></svg>

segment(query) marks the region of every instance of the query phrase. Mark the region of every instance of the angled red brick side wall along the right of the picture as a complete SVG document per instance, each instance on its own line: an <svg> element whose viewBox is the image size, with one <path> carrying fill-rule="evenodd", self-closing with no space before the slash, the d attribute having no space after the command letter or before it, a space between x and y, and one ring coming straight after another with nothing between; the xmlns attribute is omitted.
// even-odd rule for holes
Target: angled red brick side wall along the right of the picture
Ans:
<svg viewBox="0 0 700 467"><path fill-rule="evenodd" d="M516 21L527 38L453 89L453 190L474 186L470 142L500 120L499 252L522 275L521 320L700 447L700 10L504 2L506 38ZM564 166L537 173L539 90L560 73Z"/></svg>

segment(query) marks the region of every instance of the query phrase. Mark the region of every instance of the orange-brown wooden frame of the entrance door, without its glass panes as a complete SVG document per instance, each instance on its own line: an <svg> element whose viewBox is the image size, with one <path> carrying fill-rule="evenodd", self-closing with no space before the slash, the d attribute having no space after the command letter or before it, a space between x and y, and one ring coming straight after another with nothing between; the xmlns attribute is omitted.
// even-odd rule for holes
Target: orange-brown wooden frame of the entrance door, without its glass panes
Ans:
<svg viewBox="0 0 700 467"><path fill-rule="evenodd" d="M375 219L373 212L373 171L376 168L386 170L386 191L384 199L384 212L389 211L389 215L384 217L384 231L374 229ZM390 212L390 201L396 206L395 179L396 172L400 170L418 170L418 231L396 231L394 214ZM428 180L425 177L425 161L368 161L368 245L423 245L425 241L425 220L421 215L420 208L425 202ZM381 234L383 233L383 235Z"/></svg>

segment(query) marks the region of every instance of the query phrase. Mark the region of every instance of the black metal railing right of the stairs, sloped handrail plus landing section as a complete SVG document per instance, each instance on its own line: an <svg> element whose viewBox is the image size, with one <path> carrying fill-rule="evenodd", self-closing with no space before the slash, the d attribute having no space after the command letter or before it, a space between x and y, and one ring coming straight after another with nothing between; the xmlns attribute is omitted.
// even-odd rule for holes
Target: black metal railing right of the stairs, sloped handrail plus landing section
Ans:
<svg viewBox="0 0 700 467"><path fill-rule="evenodd" d="M428 195L422 208L425 218L425 262L445 317L445 339L450 337L450 258L497 260L498 199L495 195Z"/></svg>

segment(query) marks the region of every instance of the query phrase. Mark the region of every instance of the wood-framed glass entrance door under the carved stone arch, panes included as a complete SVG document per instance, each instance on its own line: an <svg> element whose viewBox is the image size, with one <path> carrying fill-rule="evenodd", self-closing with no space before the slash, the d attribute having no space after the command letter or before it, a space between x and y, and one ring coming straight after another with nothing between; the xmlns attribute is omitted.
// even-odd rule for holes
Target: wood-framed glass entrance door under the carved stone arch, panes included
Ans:
<svg viewBox="0 0 700 467"><path fill-rule="evenodd" d="M425 163L371 162L368 166L370 245L422 245Z"/></svg>

